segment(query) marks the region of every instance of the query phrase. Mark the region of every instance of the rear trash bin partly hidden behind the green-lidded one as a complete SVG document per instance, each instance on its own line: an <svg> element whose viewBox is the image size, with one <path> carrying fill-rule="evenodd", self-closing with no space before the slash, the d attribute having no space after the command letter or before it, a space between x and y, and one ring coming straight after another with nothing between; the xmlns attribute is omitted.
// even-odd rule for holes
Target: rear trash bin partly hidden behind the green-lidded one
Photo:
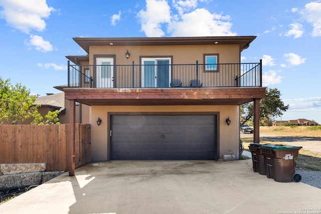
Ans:
<svg viewBox="0 0 321 214"><path fill-rule="evenodd" d="M265 175L264 155L260 143L251 143L249 149L252 153L253 171Z"/></svg>

